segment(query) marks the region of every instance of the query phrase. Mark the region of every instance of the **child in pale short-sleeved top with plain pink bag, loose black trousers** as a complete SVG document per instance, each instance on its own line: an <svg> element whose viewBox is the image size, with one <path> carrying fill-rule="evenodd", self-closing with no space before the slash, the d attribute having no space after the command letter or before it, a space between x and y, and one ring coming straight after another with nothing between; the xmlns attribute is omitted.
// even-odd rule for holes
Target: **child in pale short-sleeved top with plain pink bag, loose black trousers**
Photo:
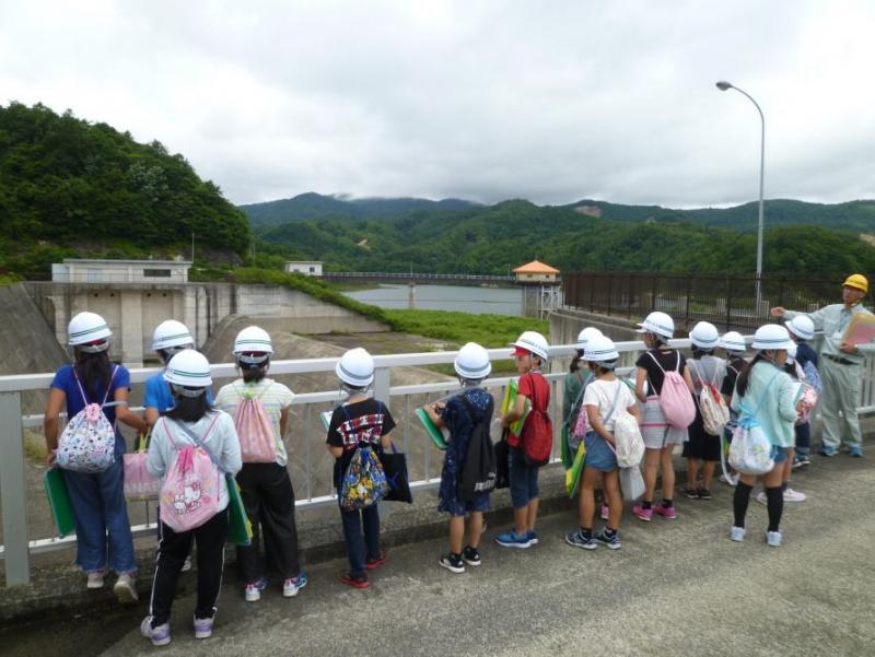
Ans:
<svg viewBox="0 0 875 657"><path fill-rule="evenodd" d="M215 406L234 418L243 455L237 483L253 524L252 543L237 545L244 597L247 602L261 599L269 565L282 580L282 595L291 598L307 584L298 556L295 496L284 442L294 395L267 377L273 342L262 328L241 330L232 354L241 378L219 390Z"/></svg>

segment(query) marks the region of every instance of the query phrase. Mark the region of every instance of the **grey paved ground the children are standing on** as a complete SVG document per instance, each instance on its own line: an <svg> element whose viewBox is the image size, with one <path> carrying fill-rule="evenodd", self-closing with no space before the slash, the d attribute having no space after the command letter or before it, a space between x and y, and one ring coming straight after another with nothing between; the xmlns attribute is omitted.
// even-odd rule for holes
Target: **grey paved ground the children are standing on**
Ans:
<svg viewBox="0 0 875 657"><path fill-rule="evenodd" d="M622 550L584 552L562 535L569 514L545 517L540 544L508 551L485 541L483 565L452 575L443 541L396 549L370 590L351 590L335 561L311 568L292 600L275 588L247 605L220 600L215 635L196 642L190 596L174 608L174 640L153 648L138 609L36 623L0 633L4 655L871 655L875 568L871 459L818 459L794 485L785 544L762 541L766 508L751 503L748 540L726 538L731 490L679 500L675 523L626 514ZM50 630L49 630L50 627ZM158 654L158 653L156 653Z"/></svg>

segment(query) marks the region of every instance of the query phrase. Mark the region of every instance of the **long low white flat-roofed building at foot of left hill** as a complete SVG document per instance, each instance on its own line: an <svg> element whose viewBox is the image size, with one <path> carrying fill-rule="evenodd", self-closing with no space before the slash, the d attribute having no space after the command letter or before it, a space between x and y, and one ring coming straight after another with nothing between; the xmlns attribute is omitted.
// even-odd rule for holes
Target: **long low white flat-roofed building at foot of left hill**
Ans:
<svg viewBox="0 0 875 657"><path fill-rule="evenodd" d="M52 263L57 283L187 283L187 260L78 260Z"/></svg>

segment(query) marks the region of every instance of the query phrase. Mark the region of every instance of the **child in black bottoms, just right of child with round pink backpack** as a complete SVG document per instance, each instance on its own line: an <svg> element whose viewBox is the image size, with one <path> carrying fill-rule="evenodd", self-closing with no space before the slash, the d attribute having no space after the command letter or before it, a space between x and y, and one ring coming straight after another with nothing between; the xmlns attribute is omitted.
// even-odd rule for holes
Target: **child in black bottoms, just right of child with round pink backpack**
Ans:
<svg viewBox="0 0 875 657"><path fill-rule="evenodd" d="M720 333L709 321L700 321L690 331L692 357L687 360L690 377L695 386L693 395L698 402L704 386L720 390L726 377L726 361L714 355L720 344ZM704 430L702 411L696 404L696 419L687 430L689 439L684 443L684 458L687 459L687 485L680 492L690 500L711 500L711 483L720 461L720 436ZM702 482L699 483L699 474Z"/></svg>

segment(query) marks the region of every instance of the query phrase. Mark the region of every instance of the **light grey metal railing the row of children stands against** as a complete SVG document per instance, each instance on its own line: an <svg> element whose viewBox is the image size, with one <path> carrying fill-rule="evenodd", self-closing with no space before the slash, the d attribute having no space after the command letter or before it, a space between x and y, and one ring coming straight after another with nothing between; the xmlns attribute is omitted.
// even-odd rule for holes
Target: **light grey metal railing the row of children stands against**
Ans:
<svg viewBox="0 0 875 657"><path fill-rule="evenodd" d="M688 348L689 341L676 340L673 345ZM641 342L620 342L620 375L632 371L638 354L643 349ZM509 357L509 349L489 351L493 361ZM574 354L573 345L555 347L551 356L567 361ZM455 352L409 353L375 356L376 376L374 395L384 400L397 421L393 432L396 444L408 455L408 468L411 488L415 490L432 490L440 482L441 458L431 445L413 410L428 401L445 397L458 389L455 380L440 380L419 385L393 386L393 371L398 367L428 366L452 363ZM334 373L338 359L315 359L276 361L271 363L271 375L295 375L313 373ZM142 384L152 376L156 368L131 371L131 383ZM221 364L212 367L213 377L221 385L222 379L236 377L233 364ZM68 550L75 542L74 537L63 539L51 538L51 528L45 519L45 495L42 482L34 483L33 476L27 478L27 470L34 470L25 458L24 434L31 433L32 439L42 439L43 415L23 415L22 397L43 392L48 389L52 374L28 374L0 377L0 513L2 514L3 545L0 558L5 562L7 586L26 584L30 580L31 556L42 552ZM559 435L562 424L562 379L564 372L548 374L552 389L550 413L553 427ZM487 380L486 386L499 399L508 385L509 377L495 377ZM320 413L330 410L340 399L338 390L300 394L294 398L295 413L292 427L292 448L290 449L290 470L292 481L298 490L296 505L299 509L315 509L336 503L331 488L331 466L334 459L325 448L325 429ZM875 411L875 360L870 360L864 369L864 382L861 386L861 412ZM36 430L36 431L34 431ZM493 437L498 437L494 435ZM553 465L558 460L559 441L555 441ZM30 484L30 485L28 485ZM142 504L144 511L136 509ZM33 520L43 507L43 536L28 532L28 517ZM150 536L155 532L154 518L149 517L145 503L129 503L135 537ZM136 511L136 513L135 513ZM154 511L154 509L153 509ZM143 515L144 514L144 515ZM139 518L139 520L138 520ZM36 532L38 533L38 531Z"/></svg>

